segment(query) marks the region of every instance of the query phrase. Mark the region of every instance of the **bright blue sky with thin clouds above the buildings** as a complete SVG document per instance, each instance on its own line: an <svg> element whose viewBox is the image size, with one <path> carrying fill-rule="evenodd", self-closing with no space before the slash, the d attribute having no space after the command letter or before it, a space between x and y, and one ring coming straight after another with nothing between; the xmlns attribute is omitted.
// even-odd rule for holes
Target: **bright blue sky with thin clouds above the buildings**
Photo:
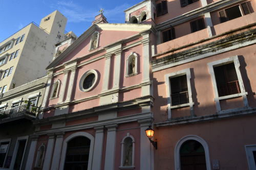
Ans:
<svg viewBox="0 0 256 170"><path fill-rule="evenodd" d="M40 24L41 18L58 10L68 18L66 31L80 36L91 25L100 8L110 23L124 23L124 10L142 2L130 1L52 1L52 0L0 0L0 42L34 21Z"/></svg>

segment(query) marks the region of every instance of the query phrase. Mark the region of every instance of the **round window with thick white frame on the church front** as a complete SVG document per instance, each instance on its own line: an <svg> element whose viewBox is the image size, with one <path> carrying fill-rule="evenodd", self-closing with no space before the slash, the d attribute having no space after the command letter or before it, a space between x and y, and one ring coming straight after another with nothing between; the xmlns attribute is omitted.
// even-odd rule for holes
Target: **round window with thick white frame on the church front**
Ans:
<svg viewBox="0 0 256 170"><path fill-rule="evenodd" d="M90 91L96 84L98 79L97 72L95 70L89 70L84 73L79 81L79 88L81 91Z"/></svg>

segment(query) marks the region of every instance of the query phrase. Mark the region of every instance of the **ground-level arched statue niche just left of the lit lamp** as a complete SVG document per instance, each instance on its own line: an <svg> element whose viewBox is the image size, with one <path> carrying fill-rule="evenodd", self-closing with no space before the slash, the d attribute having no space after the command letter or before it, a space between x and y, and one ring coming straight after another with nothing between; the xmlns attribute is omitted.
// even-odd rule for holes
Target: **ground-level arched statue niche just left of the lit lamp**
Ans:
<svg viewBox="0 0 256 170"><path fill-rule="evenodd" d="M120 168L134 168L135 141L130 133L127 133L121 142L121 165Z"/></svg>

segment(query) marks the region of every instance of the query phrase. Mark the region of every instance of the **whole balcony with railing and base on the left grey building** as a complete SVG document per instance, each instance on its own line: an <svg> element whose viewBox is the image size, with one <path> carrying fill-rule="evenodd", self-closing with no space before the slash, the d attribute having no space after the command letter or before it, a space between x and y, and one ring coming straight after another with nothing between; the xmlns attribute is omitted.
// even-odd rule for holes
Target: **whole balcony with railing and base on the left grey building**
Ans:
<svg viewBox="0 0 256 170"><path fill-rule="evenodd" d="M0 111L0 125L10 122L31 121L36 118L38 107L25 104Z"/></svg>

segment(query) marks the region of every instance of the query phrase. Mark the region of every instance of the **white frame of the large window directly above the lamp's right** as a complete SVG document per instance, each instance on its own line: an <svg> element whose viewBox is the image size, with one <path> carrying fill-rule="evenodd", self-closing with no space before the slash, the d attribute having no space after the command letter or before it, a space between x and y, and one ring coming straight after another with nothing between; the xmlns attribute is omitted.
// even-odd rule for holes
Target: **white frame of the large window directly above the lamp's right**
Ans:
<svg viewBox="0 0 256 170"><path fill-rule="evenodd" d="M186 75L187 77L187 90L188 90L188 103L182 104L182 105L175 105L172 106L172 98L170 98L170 94L172 93L170 88L170 78L175 78L179 76ZM168 107L168 118L172 118L172 111L171 109L180 108L180 107L190 107L190 115L194 116L194 102L192 100L192 93L191 93L191 84L190 84L191 74L190 74L190 68L183 69L180 71L172 72L170 74L165 75L165 84L167 88L167 107Z"/></svg>

